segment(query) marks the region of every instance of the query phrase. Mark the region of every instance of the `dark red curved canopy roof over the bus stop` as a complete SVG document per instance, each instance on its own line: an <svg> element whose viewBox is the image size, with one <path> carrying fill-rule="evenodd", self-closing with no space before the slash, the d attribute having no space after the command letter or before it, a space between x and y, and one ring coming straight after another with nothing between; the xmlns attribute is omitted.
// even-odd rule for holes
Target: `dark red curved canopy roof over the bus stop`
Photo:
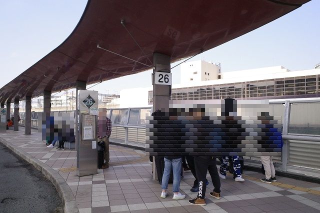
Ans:
<svg viewBox="0 0 320 213"><path fill-rule="evenodd" d="M77 80L89 84L144 71L153 67L153 52L170 55L173 62L245 34L307 1L88 0L73 32L3 86L0 102L72 88Z"/></svg>

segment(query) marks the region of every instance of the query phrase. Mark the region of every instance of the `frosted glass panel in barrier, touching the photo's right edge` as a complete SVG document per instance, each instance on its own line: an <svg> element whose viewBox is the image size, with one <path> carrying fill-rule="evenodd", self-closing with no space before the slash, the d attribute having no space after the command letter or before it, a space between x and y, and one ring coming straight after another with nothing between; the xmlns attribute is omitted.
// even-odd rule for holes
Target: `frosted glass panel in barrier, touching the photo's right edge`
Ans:
<svg viewBox="0 0 320 213"><path fill-rule="evenodd" d="M289 133L320 135L320 102L292 103Z"/></svg>

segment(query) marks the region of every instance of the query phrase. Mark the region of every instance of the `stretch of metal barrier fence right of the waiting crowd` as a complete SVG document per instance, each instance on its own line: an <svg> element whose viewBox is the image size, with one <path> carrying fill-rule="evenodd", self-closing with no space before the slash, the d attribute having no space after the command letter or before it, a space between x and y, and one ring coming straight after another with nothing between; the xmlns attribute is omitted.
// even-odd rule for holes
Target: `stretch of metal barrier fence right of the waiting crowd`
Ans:
<svg viewBox="0 0 320 213"><path fill-rule="evenodd" d="M320 177L320 100L269 101L270 115L282 116L281 156L274 157L277 170ZM293 107L293 108L292 108ZM246 164L260 166L257 157L244 157Z"/></svg>

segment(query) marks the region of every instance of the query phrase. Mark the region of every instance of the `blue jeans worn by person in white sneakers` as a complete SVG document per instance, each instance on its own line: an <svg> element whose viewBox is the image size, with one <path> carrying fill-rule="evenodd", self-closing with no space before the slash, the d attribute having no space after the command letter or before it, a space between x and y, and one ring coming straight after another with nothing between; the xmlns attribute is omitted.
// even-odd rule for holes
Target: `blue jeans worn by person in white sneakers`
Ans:
<svg viewBox="0 0 320 213"><path fill-rule="evenodd" d="M164 157L164 171L162 175L161 189L168 188L168 181L169 181L171 169L173 170L172 191L178 192L180 187L180 179L181 179L182 157L175 158L172 160Z"/></svg>

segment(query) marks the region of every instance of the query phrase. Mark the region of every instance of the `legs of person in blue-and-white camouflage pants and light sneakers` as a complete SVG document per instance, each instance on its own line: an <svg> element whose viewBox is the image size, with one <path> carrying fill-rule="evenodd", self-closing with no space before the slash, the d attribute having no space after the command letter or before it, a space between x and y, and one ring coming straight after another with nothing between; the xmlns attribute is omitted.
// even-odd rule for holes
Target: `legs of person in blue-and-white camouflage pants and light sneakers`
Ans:
<svg viewBox="0 0 320 213"><path fill-rule="evenodd" d="M222 156L221 157L222 161L219 169L219 177L221 179L225 179L229 157L232 157L232 161L233 161L233 179L235 181L243 182L244 179L242 178L242 175L241 175L241 164L239 161L239 156Z"/></svg>

